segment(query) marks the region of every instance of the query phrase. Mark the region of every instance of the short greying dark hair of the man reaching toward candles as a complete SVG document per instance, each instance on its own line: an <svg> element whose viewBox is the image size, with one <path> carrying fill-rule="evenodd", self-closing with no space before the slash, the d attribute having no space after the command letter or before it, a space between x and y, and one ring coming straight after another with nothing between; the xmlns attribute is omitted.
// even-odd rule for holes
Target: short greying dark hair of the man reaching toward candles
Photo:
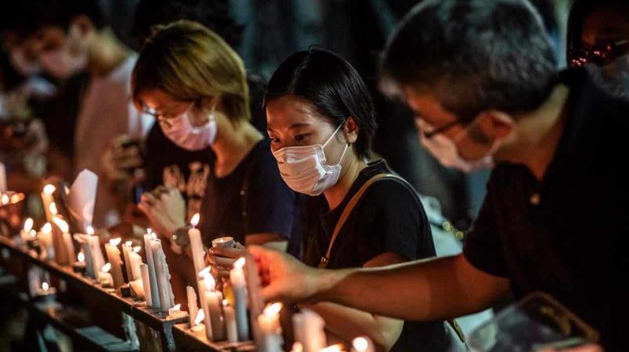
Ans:
<svg viewBox="0 0 629 352"><path fill-rule="evenodd" d="M401 21L381 60L381 86L434 98L466 120L542 105L557 59L537 11L525 0L425 0Z"/></svg>

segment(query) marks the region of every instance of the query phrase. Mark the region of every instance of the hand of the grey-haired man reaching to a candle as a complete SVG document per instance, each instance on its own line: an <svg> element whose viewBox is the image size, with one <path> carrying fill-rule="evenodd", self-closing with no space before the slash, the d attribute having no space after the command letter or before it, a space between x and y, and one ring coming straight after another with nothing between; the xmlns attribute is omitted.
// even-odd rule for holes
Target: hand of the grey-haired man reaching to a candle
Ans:
<svg viewBox="0 0 629 352"><path fill-rule="evenodd" d="M317 293L320 270L275 249L250 246L247 250L258 266L265 302L304 302Z"/></svg>

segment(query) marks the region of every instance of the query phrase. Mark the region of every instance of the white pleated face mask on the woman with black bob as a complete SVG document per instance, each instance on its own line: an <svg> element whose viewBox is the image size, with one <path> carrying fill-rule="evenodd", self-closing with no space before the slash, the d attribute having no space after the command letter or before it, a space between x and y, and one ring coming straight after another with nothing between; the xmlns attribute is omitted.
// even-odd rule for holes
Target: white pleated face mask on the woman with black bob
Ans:
<svg viewBox="0 0 629 352"><path fill-rule="evenodd" d="M334 166L326 164L323 149L332 140L342 123L330 138L322 145L305 145L303 147L284 147L273 153L277 159L279 173L293 191L310 196L318 196L338 182L341 174L341 161L349 144L345 145L343 154Z"/></svg>

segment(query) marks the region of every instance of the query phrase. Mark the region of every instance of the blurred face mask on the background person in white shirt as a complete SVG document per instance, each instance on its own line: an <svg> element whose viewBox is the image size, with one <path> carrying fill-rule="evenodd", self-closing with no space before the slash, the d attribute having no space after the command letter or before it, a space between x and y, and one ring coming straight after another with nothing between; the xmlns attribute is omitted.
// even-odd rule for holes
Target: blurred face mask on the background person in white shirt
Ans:
<svg viewBox="0 0 629 352"><path fill-rule="evenodd" d="M67 79L84 71L87 67L87 47L79 37L79 28L70 27L64 45L40 55L39 60L43 69L60 79ZM72 48L77 47L79 52L73 52Z"/></svg>

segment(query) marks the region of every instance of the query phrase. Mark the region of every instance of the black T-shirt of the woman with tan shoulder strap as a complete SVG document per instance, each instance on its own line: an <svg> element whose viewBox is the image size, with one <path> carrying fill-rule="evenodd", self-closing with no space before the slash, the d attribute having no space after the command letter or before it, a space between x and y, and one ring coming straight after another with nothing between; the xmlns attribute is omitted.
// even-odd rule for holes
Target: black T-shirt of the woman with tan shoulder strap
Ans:
<svg viewBox="0 0 629 352"><path fill-rule="evenodd" d="M343 202L331 211L324 196L311 198L306 214L306 264L318 266L345 205L360 187L376 174L391 172L384 161L370 163L360 172ZM361 267L387 252L408 260L436 255L430 224L418 195L395 179L382 179L365 191L334 242L328 268ZM386 287L382 290L386 292ZM407 321L392 351L445 351L449 341L442 321Z"/></svg>

